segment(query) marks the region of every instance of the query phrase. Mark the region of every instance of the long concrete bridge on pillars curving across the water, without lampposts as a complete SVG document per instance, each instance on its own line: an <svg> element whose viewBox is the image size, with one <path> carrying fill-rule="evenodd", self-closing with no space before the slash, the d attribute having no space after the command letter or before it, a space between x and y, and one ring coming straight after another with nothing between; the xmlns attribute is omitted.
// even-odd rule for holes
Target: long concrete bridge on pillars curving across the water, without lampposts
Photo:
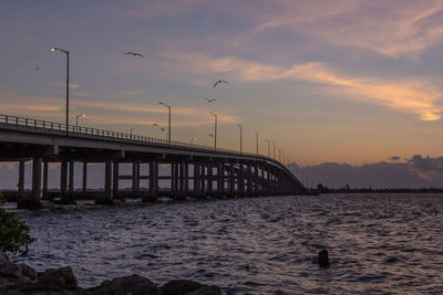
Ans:
<svg viewBox="0 0 443 295"><path fill-rule="evenodd" d="M87 196L87 165L96 162L105 168L104 190L93 193L95 203L130 197L148 202L162 196L186 199L308 193L285 165L261 155L7 115L0 115L0 161L19 162L19 208L39 208L42 199L55 200L48 190L49 162L60 164L56 199L62 203ZM27 161L32 161L30 193L24 192ZM80 193L73 185L74 162L83 165ZM132 173L120 173L121 165L131 165ZM159 165L169 166L171 173L159 176ZM148 167L147 175L141 175L142 166ZM120 181L128 179L132 189L120 189ZM171 183L168 190L159 188L162 179ZM141 180L147 180L147 188L141 188Z"/></svg>

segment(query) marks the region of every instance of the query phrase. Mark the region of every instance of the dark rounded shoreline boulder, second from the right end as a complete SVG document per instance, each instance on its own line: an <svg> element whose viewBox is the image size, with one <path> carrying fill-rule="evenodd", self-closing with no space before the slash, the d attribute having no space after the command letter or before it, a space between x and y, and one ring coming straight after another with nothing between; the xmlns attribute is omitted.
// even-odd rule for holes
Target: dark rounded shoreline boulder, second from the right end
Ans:
<svg viewBox="0 0 443 295"><path fill-rule="evenodd" d="M115 277L111 282L105 281L102 287L115 287L132 295L161 295L158 287L148 278L137 274Z"/></svg>

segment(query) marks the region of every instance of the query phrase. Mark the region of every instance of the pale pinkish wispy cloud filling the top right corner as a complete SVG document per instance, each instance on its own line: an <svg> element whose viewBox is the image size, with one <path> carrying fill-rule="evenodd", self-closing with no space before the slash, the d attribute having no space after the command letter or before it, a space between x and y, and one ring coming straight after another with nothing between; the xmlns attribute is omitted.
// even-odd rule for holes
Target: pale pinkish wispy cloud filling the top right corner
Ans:
<svg viewBox="0 0 443 295"><path fill-rule="evenodd" d="M278 1L269 10L256 15L259 23L240 33L234 43L290 30L323 43L361 48L394 59L415 57L443 43L440 0Z"/></svg>

